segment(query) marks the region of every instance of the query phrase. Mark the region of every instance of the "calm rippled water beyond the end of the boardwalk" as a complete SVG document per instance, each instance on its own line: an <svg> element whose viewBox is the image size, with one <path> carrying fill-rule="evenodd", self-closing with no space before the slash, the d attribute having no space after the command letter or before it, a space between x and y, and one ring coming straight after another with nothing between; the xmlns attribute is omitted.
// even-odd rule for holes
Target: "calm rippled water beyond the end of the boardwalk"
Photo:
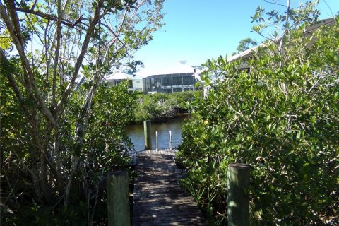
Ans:
<svg viewBox="0 0 339 226"><path fill-rule="evenodd" d="M159 138L159 149L169 149L169 131L172 131L172 148L177 147L182 142L182 122L183 119L174 119L162 124L152 124L152 148L155 149L155 131ZM143 124L127 126L126 131L136 150L145 149Z"/></svg>

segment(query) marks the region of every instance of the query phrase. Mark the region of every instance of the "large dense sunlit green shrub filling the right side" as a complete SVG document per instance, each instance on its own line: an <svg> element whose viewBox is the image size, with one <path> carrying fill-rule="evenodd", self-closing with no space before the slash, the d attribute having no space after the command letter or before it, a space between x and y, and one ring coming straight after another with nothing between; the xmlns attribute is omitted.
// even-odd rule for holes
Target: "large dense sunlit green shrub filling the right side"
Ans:
<svg viewBox="0 0 339 226"><path fill-rule="evenodd" d="M339 20L312 37L304 28L289 30L281 52L274 42L259 48L250 72L238 70L241 61L206 63L220 79L192 103L177 157L212 223L227 220L231 162L253 167L253 225L338 220Z"/></svg>

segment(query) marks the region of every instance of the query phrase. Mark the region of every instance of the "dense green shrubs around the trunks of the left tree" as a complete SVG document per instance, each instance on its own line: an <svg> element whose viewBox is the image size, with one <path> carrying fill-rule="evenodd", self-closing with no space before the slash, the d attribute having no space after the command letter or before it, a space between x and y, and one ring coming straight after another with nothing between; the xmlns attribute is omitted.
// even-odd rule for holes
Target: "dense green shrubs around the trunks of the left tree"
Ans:
<svg viewBox="0 0 339 226"><path fill-rule="evenodd" d="M124 150L131 147L124 127L133 119L134 100L127 93L127 83L97 90L85 135L85 145L79 153L79 172L74 175L69 205L62 196L54 195L52 203L40 205L35 201L32 178L25 170L36 164L30 150L35 148L28 122L18 106L18 100L1 75L1 225L94 225L105 224L107 202L105 177L109 170L126 168ZM71 172L72 138L76 119L81 110L83 85L66 109L67 117L60 128L61 161ZM25 169L20 167L23 162Z"/></svg>

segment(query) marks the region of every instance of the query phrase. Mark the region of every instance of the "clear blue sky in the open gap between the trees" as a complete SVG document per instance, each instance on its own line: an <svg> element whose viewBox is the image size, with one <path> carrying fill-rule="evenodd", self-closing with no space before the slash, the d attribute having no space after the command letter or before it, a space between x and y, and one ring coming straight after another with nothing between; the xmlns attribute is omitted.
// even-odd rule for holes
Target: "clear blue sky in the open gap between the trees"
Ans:
<svg viewBox="0 0 339 226"><path fill-rule="evenodd" d="M279 2L285 4L286 1ZM298 6L304 1L290 2ZM153 41L135 54L135 59L145 64L139 74L149 76L161 71L176 71L179 61L196 66L208 58L230 56L239 41L246 37L260 42L262 38L251 32L254 25L251 16L258 6L267 10L275 8L281 13L285 10L263 0L166 0L166 25L155 32ZM339 0L321 0L318 8L321 18L331 17L339 11Z"/></svg>

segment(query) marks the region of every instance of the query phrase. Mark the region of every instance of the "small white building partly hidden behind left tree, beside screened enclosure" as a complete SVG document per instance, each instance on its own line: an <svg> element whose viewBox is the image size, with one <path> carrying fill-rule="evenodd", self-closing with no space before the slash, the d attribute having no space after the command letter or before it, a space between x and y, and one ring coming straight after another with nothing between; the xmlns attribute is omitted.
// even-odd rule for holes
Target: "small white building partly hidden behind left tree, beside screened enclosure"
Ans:
<svg viewBox="0 0 339 226"><path fill-rule="evenodd" d="M117 85L127 79L129 80L129 92L143 90L143 78L140 76L133 76L129 73L119 72L109 74L105 79L109 85Z"/></svg>

